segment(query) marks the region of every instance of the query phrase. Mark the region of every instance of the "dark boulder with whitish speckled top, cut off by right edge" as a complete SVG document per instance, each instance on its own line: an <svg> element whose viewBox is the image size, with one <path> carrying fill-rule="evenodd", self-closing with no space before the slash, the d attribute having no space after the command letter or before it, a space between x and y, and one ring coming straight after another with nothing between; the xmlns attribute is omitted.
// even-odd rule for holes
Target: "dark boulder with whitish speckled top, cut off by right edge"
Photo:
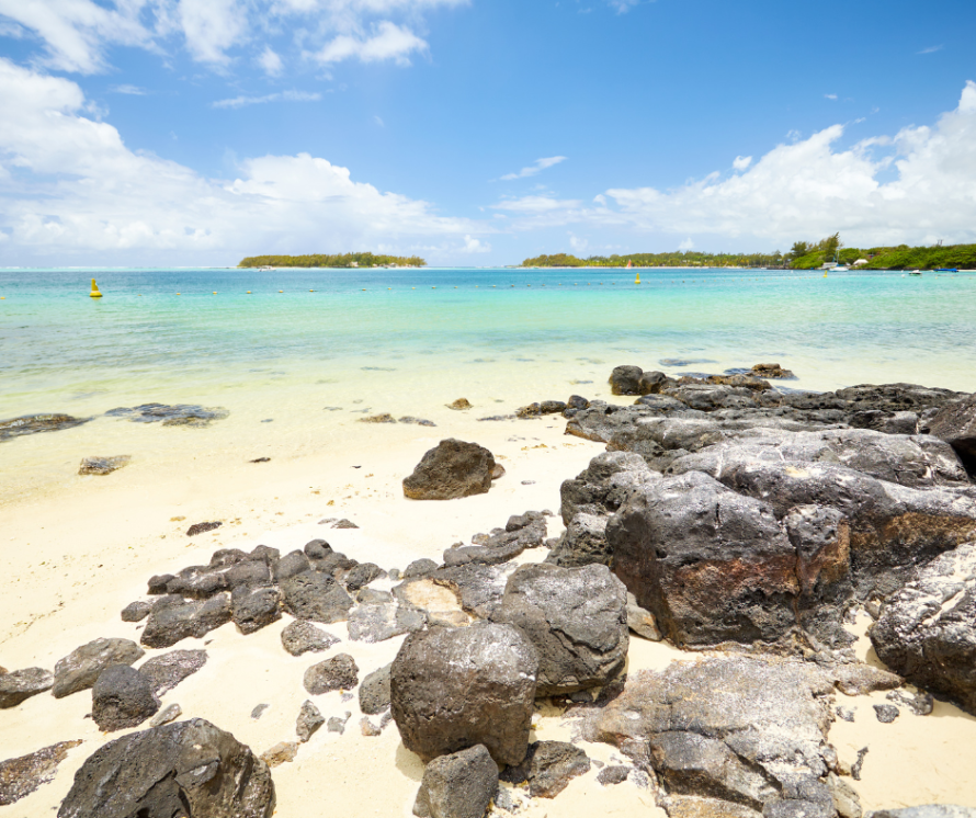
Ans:
<svg viewBox="0 0 976 818"><path fill-rule="evenodd" d="M871 643L892 670L976 715L976 543L938 557L888 597Z"/></svg>

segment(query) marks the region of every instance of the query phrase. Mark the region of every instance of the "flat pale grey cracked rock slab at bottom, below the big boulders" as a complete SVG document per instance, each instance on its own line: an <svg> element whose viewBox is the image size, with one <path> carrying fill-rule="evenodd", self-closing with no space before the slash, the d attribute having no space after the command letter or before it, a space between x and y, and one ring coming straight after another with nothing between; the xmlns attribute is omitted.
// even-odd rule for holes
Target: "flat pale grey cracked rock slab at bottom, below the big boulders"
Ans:
<svg viewBox="0 0 976 818"><path fill-rule="evenodd" d="M821 782L831 691L829 670L810 663L674 662L632 673L595 716L594 738L654 768L676 818L689 809L775 811L784 800L813 810L829 802L832 810Z"/></svg>

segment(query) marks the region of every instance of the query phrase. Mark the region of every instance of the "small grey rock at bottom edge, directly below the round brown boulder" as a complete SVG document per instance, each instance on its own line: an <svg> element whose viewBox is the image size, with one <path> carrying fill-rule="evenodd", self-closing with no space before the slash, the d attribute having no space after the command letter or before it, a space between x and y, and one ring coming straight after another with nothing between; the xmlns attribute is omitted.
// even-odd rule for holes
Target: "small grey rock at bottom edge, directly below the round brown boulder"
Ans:
<svg viewBox="0 0 976 818"><path fill-rule="evenodd" d="M498 768L484 745L442 755L423 771L418 818L484 818L498 792Z"/></svg>

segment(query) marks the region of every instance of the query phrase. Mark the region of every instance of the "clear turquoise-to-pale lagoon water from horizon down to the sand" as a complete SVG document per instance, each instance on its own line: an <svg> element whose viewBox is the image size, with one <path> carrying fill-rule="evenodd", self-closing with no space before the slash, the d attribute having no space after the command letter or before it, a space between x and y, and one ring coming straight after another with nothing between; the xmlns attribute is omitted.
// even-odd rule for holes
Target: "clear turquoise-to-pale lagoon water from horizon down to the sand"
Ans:
<svg viewBox="0 0 976 818"><path fill-rule="evenodd" d="M56 487L92 454L177 467L260 439L297 455L370 412L606 397L622 363L774 361L793 388L976 390L976 275L639 272L636 285L599 269L0 271L0 419L97 418L0 444L0 501ZM88 297L91 277L103 298ZM104 417L149 401L230 417L206 430Z"/></svg>

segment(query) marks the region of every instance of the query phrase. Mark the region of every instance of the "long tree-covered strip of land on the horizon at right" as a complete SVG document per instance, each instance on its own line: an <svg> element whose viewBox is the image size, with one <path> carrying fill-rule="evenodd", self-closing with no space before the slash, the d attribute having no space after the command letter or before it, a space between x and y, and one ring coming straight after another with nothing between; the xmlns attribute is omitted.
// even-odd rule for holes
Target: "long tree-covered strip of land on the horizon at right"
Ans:
<svg viewBox="0 0 976 818"><path fill-rule="evenodd" d="M818 242L797 241L787 253L706 253L677 250L665 253L629 255L590 255L579 259L568 253L537 255L525 259L522 266L571 268L768 268L773 270L817 270L837 262L859 270L939 270L976 269L976 245L939 245L937 247L844 247L840 235Z"/></svg>

